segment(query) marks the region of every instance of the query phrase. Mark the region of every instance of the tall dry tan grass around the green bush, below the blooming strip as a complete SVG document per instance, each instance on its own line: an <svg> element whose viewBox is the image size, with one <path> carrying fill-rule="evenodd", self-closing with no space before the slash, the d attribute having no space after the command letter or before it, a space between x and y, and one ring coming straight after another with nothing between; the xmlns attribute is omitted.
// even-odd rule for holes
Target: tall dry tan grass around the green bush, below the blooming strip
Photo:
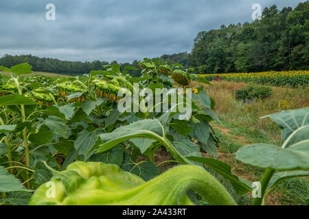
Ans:
<svg viewBox="0 0 309 219"><path fill-rule="evenodd" d="M309 106L309 88L280 88L273 87L274 93L265 100L243 103L235 98L236 90L247 86L247 83L214 81L214 86L205 86L205 90L215 100L215 112L220 115L227 114L227 119L238 118L243 127L257 126L267 131L277 129L277 125L268 119L260 119L282 110L295 110ZM198 86L193 84L192 86Z"/></svg>

